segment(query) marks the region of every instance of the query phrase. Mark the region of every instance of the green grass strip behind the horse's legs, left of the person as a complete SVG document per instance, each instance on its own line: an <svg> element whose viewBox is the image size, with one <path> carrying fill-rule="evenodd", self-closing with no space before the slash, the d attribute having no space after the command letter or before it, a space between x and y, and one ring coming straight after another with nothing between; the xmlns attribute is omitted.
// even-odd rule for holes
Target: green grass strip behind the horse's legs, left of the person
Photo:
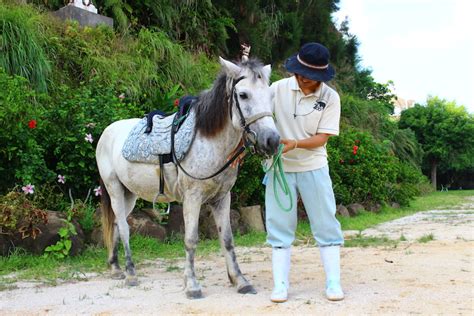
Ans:
<svg viewBox="0 0 474 316"><path fill-rule="evenodd" d="M239 247L261 245L264 242L265 234L262 232L236 236L235 240L236 246ZM170 242L159 242L156 239L135 235L130 239L130 247L137 269L140 269L140 265L147 260L161 258L172 261L185 255L184 242L179 237ZM219 249L218 240L202 240L198 244L196 254L207 256L218 252ZM123 263L123 250L121 249L119 253L122 255L120 262ZM91 272L100 274L108 270L106 259L107 251L102 247L89 246L80 256L64 260L32 255L19 249L9 257L0 257L0 291L8 288L7 284L12 282L11 275L14 280L42 280L53 285L56 280L87 279L87 275ZM167 271L174 269L170 267Z"/></svg>

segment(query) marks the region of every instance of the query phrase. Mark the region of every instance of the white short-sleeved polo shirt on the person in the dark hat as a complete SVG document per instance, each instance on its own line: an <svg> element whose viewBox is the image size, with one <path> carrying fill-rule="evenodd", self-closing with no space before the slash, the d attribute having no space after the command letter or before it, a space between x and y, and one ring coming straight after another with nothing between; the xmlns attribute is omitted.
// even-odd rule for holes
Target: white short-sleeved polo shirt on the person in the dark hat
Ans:
<svg viewBox="0 0 474 316"><path fill-rule="evenodd" d="M316 134L339 135L341 101L339 94L325 83L311 94L304 95L296 78L274 82L273 114L281 138L305 139ZM282 156L285 172L303 172L327 165L326 145L290 150Z"/></svg>

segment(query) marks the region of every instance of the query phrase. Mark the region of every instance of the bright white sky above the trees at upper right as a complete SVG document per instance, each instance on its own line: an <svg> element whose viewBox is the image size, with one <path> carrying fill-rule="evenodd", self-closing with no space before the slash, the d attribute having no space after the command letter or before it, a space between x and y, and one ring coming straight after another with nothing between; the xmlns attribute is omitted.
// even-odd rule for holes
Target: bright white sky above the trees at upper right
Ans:
<svg viewBox="0 0 474 316"><path fill-rule="evenodd" d="M395 93L426 104L429 95L474 114L474 1L340 0L364 68Z"/></svg>

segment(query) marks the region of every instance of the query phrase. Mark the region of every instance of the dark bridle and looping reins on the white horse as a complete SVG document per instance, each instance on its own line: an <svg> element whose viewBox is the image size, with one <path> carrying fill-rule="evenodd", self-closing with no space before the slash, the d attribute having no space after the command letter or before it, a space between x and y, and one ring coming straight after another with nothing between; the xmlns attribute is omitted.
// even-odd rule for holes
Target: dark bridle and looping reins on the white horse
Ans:
<svg viewBox="0 0 474 316"><path fill-rule="evenodd" d="M229 159L219 170L217 170L216 172L214 172L210 176L195 177L195 176L189 174L183 168L183 166L181 166L179 160L176 157L176 152L175 152L175 149L174 149L174 135L177 132L177 124L175 124L175 120L176 120L176 116L175 116L175 119L173 120L173 124L172 124L172 127L171 127L171 155L173 157L173 160L176 162L176 165L178 165L179 169L181 169L181 171L183 171L188 177L193 178L195 180L208 180L208 179L211 179L211 178L217 176L218 174L220 174L221 172L223 172L225 169L227 169L235 161L235 159L237 159L247 148L249 149L249 151L252 154L254 154L256 152L255 145L257 144L257 133L255 133L255 131L251 130L249 126L252 123L258 121L259 119L261 119L265 116L273 116L273 114L271 112L267 111L267 112L257 113L257 114L252 115L251 117L249 117L247 119L245 118L245 116L242 112L242 109L240 107L237 92L235 91L236 85L242 79L245 79L245 76L241 76L237 79L234 79L234 81L232 82L231 95L229 97L229 103L230 103L230 105L229 105L230 111L229 112L230 112L230 116L231 116L230 119L232 121L232 108L235 105L235 107L237 108L237 112L239 113L239 116L240 116L240 126L243 129L243 134L242 134L243 144L239 148L239 150L237 150L235 152L235 154L232 156L231 159Z"/></svg>

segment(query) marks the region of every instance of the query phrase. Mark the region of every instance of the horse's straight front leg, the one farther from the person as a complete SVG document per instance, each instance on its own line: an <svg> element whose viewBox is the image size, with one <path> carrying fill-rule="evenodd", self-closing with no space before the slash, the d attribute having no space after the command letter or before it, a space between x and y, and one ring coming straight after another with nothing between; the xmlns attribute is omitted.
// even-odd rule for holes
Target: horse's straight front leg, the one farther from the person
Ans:
<svg viewBox="0 0 474 316"><path fill-rule="evenodd" d="M202 200L193 194L186 196L183 201L184 215L184 245L186 263L184 267L184 285L188 298L201 298L201 285L196 280L194 271L194 254L198 242L199 213Z"/></svg>

